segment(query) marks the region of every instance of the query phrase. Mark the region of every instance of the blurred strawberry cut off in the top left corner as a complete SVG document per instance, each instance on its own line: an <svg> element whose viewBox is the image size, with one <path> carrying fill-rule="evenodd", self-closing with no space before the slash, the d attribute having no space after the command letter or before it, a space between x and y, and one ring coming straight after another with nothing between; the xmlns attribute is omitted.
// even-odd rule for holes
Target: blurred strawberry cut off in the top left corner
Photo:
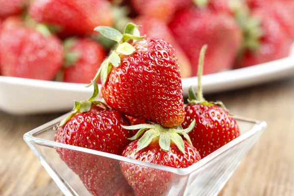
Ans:
<svg viewBox="0 0 294 196"><path fill-rule="evenodd" d="M0 18L20 14L28 0L0 0Z"/></svg>

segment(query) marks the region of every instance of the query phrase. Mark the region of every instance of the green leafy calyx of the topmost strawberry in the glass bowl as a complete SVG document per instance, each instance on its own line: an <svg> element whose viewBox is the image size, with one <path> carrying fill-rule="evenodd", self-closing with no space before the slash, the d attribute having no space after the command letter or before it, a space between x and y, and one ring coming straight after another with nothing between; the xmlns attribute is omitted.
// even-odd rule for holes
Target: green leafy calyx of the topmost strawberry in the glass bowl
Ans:
<svg viewBox="0 0 294 196"><path fill-rule="evenodd" d="M124 28L124 33L111 28L109 26L98 26L94 30L98 31L104 37L116 41L118 43L116 49L110 52L110 55L102 62L98 72L96 73L93 81L97 81L98 77L101 77L102 84L105 83L108 74L113 67L118 67L121 64L120 55L130 55L136 49L128 42L132 40L132 43L142 40L145 36L140 36L138 25L128 23ZM87 85L87 87L91 86Z"/></svg>

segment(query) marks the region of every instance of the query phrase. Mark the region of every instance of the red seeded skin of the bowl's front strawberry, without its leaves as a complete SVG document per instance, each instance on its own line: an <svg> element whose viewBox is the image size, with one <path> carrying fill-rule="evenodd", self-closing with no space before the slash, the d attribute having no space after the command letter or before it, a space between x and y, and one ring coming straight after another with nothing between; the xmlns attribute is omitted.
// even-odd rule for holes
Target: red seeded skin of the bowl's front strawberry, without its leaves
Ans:
<svg viewBox="0 0 294 196"><path fill-rule="evenodd" d="M159 147L158 139L153 139L146 148L136 152L139 140L130 143L123 156L173 168L187 168L201 159L195 147L184 140L185 154L171 143L168 152ZM120 163L124 177L133 187L136 196L166 196L177 177L171 172L142 167L126 162Z"/></svg>

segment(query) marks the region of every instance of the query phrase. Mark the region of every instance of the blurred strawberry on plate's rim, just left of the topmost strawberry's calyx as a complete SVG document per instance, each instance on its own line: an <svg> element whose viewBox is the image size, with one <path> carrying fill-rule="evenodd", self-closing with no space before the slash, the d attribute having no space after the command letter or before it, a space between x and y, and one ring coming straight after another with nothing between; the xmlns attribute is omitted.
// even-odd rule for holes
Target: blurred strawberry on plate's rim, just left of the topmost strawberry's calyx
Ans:
<svg viewBox="0 0 294 196"><path fill-rule="evenodd" d="M89 83L106 56L100 44L84 38L66 40L64 49L64 82Z"/></svg>

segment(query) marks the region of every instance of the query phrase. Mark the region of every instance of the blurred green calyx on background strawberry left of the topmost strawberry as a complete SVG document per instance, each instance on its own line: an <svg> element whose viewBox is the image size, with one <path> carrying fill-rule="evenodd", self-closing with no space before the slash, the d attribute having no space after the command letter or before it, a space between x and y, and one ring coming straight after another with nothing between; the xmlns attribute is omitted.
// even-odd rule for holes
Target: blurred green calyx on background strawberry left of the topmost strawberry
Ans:
<svg viewBox="0 0 294 196"><path fill-rule="evenodd" d="M63 66L65 68L68 68L68 67L72 66L73 64L75 64L80 57L79 52L71 50L75 41L76 41L76 39L72 37L72 38L66 39L63 43L63 50L64 50Z"/></svg>

